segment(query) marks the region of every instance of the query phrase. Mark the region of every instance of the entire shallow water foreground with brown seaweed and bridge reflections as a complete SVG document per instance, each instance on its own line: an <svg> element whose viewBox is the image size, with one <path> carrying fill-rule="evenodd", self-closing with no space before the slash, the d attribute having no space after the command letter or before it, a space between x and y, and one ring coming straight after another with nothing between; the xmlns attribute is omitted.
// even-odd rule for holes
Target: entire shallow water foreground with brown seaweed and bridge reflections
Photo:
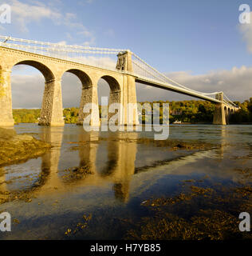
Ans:
<svg viewBox="0 0 252 256"><path fill-rule="evenodd" d="M1 239L251 238L238 215L252 213L252 126L171 126L165 141L73 125L14 130L47 146L0 167L0 212L13 222Z"/></svg>

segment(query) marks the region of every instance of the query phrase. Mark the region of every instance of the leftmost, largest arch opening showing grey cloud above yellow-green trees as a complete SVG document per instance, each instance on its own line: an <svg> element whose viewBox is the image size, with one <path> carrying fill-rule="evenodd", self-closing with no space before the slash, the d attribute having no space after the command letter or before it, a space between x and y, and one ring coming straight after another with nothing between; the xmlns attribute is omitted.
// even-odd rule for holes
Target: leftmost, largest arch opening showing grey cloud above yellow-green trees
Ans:
<svg viewBox="0 0 252 256"><path fill-rule="evenodd" d="M12 67L10 78L14 123L38 123L45 82L54 79L52 71L39 62L22 61Z"/></svg>

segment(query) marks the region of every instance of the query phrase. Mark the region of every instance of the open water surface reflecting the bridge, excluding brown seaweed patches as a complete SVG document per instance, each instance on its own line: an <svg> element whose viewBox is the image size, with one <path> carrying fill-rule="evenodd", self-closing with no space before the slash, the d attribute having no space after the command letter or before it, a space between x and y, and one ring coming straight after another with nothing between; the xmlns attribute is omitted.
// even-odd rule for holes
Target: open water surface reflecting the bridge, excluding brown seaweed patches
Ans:
<svg viewBox="0 0 252 256"><path fill-rule="evenodd" d="M169 139L213 143L208 150L171 150L168 146L138 143L147 132L86 133L82 127L15 126L53 148L40 158L0 169L0 190L32 191L32 201L0 205L18 223L1 239L116 239L124 238L130 218L137 222L148 198L175 196L181 182L203 179L222 186L238 184L234 170L252 165L252 126L170 126ZM76 176L74 166L92 174ZM208 177L206 180L205 178ZM33 189L36 186L36 189ZM73 234L83 215L92 221ZM65 231L72 233L66 235Z"/></svg>

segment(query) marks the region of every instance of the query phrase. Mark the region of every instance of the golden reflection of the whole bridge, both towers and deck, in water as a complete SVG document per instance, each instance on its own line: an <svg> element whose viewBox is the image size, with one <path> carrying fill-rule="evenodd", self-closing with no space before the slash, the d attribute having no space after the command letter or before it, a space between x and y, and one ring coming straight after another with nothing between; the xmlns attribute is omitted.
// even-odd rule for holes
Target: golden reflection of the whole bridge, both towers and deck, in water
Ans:
<svg viewBox="0 0 252 256"><path fill-rule="evenodd" d="M14 169L11 166L0 168L0 191L14 191L18 185L19 191L28 190L35 195L50 197L57 193L68 194L79 189L84 192L89 191L90 187L100 187L105 190L112 189L118 200L127 202L130 191L135 197L168 174L185 176L201 173L237 179L234 168L240 167L240 162L230 168L232 148L227 126L219 126L214 132L211 130L213 140L220 144L218 148L193 155L191 152L188 155L183 152L168 153L168 149L155 149L152 146L148 148L146 144L144 150L147 151L144 151L142 145L137 143L138 134L135 132L86 133L81 127L72 127L72 131L69 131L69 126L41 127L41 138L52 143L53 149L41 158L31 159ZM156 161L158 165L155 164ZM209 163L207 168L206 163ZM34 164L37 164L38 170L33 168ZM80 172L76 178L76 170L69 168L75 166L84 167L92 174ZM32 182L23 183L22 178L18 179L18 176L22 176L22 170L25 170L25 175L27 172L40 175L36 174ZM64 178L65 174L70 174L67 179ZM22 188L24 184L26 188Z"/></svg>

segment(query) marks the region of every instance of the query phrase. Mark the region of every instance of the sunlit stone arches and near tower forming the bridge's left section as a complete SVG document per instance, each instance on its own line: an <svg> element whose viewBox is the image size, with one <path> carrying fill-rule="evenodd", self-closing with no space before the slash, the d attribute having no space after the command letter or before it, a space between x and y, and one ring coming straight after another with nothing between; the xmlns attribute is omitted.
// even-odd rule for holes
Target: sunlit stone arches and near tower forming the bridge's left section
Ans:
<svg viewBox="0 0 252 256"><path fill-rule="evenodd" d="M91 108L89 113L83 113L87 103L93 103L98 109L97 83L100 78L108 82L110 96L108 106L120 103L119 110L113 110L108 118L118 113L118 125L138 124L137 111L131 114L128 103L136 105L136 82L132 72L132 55L130 51L118 54L116 70L106 70L96 66L89 66L77 62L52 58L41 54L10 49L0 46L0 126L13 126L12 96L10 74L13 66L33 66L45 78L45 90L42 98L41 117L38 124L41 126L64 126L61 78L65 72L75 74L82 84L82 94L73 106L80 106L78 124L89 122L92 126L99 126L99 111ZM121 72L123 71L123 72ZM36 86L36 85L34 85ZM74 85L73 90L75 90ZM29 98L29 91L26 92ZM90 117L90 121L87 117Z"/></svg>

